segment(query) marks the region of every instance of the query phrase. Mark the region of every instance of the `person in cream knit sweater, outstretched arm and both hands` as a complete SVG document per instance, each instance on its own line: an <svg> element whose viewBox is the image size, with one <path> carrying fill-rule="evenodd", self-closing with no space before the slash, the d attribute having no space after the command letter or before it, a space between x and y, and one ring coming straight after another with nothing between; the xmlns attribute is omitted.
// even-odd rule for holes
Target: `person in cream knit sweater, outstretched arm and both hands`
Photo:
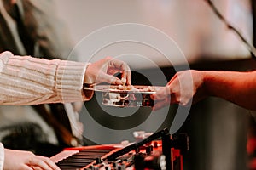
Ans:
<svg viewBox="0 0 256 170"><path fill-rule="evenodd" d="M113 75L121 72L121 81ZM37 59L0 54L0 105L69 103L91 99L93 91L84 84L108 82L131 84L131 70L110 57L92 64L60 59ZM0 169L59 169L44 156L30 151L4 149L0 143Z"/></svg>

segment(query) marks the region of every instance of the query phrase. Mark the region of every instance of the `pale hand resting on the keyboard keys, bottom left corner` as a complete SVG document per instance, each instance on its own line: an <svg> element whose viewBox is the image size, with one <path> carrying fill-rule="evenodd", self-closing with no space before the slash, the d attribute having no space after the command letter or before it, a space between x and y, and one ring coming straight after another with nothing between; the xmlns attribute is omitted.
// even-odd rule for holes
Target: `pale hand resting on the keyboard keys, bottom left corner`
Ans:
<svg viewBox="0 0 256 170"><path fill-rule="evenodd" d="M35 156L30 151L9 150L4 149L4 164L3 169L8 170L34 170L34 169L52 169L61 170L50 161L48 157Z"/></svg>

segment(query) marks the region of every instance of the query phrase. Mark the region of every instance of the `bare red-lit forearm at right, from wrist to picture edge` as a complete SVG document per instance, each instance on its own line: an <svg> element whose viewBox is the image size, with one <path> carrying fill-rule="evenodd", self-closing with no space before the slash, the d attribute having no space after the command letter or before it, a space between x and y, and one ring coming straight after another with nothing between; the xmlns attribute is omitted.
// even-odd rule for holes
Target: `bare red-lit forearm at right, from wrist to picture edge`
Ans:
<svg viewBox="0 0 256 170"><path fill-rule="evenodd" d="M204 71L203 74L208 95L256 110L256 71Z"/></svg>

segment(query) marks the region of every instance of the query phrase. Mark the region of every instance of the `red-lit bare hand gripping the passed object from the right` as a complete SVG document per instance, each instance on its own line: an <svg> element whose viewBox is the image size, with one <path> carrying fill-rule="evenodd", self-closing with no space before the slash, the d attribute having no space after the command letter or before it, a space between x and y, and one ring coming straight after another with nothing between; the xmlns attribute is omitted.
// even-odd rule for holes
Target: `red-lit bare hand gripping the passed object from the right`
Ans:
<svg viewBox="0 0 256 170"><path fill-rule="evenodd" d="M193 103L206 97L203 71L180 71L166 87L152 95L154 110L170 104L188 105L191 99Z"/></svg>

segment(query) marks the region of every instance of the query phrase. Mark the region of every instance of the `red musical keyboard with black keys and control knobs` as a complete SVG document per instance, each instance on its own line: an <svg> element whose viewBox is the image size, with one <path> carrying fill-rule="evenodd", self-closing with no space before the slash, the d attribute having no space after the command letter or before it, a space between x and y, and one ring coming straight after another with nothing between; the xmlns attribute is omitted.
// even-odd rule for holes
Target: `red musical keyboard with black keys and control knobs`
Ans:
<svg viewBox="0 0 256 170"><path fill-rule="evenodd" d="M163 135L164 134L164 135ZM183 152L188 139L172 139L154 133L143 141L67 148L52 156L63 170L183 170ZM162 136L162 140L154 140Z"/></svg>

